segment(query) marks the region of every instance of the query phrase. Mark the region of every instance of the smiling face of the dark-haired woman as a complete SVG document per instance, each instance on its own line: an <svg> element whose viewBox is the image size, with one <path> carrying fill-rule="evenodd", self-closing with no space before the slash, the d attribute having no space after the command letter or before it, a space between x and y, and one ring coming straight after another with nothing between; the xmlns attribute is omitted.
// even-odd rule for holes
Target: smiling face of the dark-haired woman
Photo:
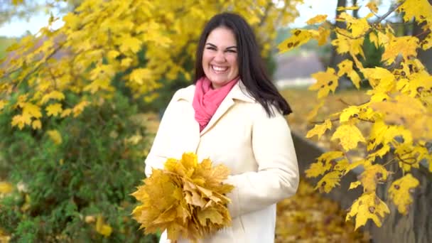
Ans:
<svg viewBox="0 0 432 243"><path fill-rule="evenodd" d="M208 35L202 53L202 69L213 89L224 86L239 75L237 41L229 28L215 28Z"/></svg>

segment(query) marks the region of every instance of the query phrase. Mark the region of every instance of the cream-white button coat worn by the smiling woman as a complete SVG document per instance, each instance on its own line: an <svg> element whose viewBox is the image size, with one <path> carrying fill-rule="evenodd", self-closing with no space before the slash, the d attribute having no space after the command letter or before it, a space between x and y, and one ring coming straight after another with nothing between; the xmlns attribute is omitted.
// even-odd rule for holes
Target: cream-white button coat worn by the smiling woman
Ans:
<svg viewBox="0 0 432 243"><path fill-rule="evenodd" d="M175 92L146 158L147 176L152 167L163 168L167 158L181 158L186 151L198 154L198 161L210 158L214 165L224 163L230 169L225 182L235 187L227 195L232 200L232 226L200 242L274 242L276 202L294 195L298 187L286 119L276 109L276 116L268 117L244 89L241 80L234 85L201 132L192 106L195 85ZM161 242L170 242L166 232Z"/></svg>

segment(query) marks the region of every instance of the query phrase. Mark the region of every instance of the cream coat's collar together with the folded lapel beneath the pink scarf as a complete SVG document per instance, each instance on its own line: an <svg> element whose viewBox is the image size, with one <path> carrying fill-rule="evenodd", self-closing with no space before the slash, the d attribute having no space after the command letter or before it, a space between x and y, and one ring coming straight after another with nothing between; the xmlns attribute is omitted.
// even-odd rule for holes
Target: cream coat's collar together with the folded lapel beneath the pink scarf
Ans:
<svg viewBox="0 0 432 243"><path fill-rule="evenodd" d="M176 101L185 99L192 107L193 96L195 95L195 85L185 87L184 89L179 90L175 95L176 97L174 99ZM205 128L200 132L200 136L204 135L208 130L215 126L217 121L219 121L219 119L228 111L228 109L234 105L234 100L236 99L243 102L256 103L255 99L247 94L246 87L244 86L242 80L239 80L239 82L237 82L237 84L232 87L232 90L229 91L227 97L225 97L220 106L217 108L216 113L210 119L207 126L205 126Z"/></svg>

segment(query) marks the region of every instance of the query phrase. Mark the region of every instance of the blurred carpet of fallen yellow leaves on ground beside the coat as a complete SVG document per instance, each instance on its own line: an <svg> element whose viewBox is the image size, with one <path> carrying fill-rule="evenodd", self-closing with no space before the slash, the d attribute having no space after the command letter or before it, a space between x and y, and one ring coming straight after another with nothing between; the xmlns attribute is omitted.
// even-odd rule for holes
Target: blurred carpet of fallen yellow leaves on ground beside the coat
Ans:
<svg viewBox="0 0 432 243"><path fill-rule="evenodd" d="M316 193L303 178L296 195L279 202L276 212L276 243L370 241L367 231L355 231L345 221L338 202Z"/></svg>

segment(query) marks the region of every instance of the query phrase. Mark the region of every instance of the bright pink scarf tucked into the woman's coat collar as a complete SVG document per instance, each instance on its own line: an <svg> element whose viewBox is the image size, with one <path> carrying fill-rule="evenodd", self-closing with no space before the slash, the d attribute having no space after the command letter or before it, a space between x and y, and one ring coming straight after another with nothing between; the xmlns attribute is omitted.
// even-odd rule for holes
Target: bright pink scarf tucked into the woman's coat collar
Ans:
<svg viewBox="0 0 432 243"><path fill-rule="evenodd" d="M222 100L227 97L238 80L239 77L236 77L217 90L212 89L212 82L207 77L201 77L196 82L192 105L195 109L195 120L200 124L200 131L207 126L217 107L220 106Z"/></svg>

